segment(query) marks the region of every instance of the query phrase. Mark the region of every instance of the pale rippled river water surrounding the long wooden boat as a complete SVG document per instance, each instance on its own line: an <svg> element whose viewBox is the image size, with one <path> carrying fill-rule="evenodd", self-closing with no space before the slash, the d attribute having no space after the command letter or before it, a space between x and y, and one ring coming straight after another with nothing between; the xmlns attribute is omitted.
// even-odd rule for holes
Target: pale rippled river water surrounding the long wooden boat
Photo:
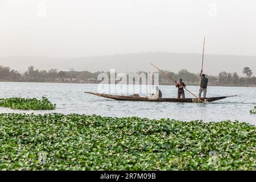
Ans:
<svg viewBox="0 0 256 182"><path fill-rule="evenodd" d="M172 118L182 121L243 121L256 125L256 114L249 110L256 106L256 88L208 86L208 97L229 96L224 100L204 104L172 102L115 101L85 94L84 91L101 92L97 84L64 84L35 82L0 82L0 97L24 97L38 99L46 96L55 103L53 111L24 111L0 107L0 113L78 113L111 117ZM175 86L160 85L163 97L176 97ZM187 86L197 94L199 86ZM118 92L118 91L117 91ZM121 94L121 93L120 93ZM143 93L141 93L143 94ZM191 97L185 92L186 97Z"/></svg>

